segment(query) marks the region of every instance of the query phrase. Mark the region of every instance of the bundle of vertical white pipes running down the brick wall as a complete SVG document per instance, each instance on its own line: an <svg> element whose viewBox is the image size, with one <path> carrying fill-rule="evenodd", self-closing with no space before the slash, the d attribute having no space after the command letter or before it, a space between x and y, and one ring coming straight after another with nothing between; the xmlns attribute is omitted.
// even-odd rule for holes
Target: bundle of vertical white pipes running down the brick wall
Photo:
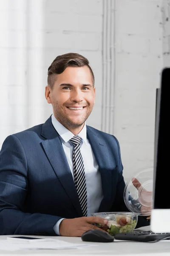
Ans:
<svg viewBox="0 0 170 256"><path fill-rule="evenodd" d="M113 134L115 99L115 9L116 0L103 0L103 91L102 131Z"/></svg>

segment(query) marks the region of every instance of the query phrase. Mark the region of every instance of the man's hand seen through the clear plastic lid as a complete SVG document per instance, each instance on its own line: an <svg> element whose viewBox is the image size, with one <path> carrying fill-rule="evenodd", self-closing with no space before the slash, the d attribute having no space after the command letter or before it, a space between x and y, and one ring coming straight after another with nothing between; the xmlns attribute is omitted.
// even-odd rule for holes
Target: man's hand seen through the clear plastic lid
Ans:
<svg viewBox="0 0 170 256"><path fill-rule="evenodd" d="M135 186L138 190L139 203L142 205L141 213L145 214L148 212L148 214L150 214L153 205L152 192L144 189L139 180L136 178L132 178L132 183L133 186Z"/></svg>

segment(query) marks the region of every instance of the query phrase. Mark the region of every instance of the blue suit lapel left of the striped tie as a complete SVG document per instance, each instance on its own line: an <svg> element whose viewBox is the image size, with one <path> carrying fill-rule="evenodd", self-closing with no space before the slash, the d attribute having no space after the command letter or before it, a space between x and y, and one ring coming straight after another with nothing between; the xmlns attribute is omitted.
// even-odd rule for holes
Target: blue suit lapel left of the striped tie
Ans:
<svg viewBox="0 0 170 256"><path fill-rule="evenodd" d="M78 216L82 216L82 209L79 203L79 197L74 185L73 176L65 156L59 134L51 122L51 117L42 125L41 135L47 140L42 142L42 147L48 157L51 166L59 178L68 197L71 199Z"/></svg>

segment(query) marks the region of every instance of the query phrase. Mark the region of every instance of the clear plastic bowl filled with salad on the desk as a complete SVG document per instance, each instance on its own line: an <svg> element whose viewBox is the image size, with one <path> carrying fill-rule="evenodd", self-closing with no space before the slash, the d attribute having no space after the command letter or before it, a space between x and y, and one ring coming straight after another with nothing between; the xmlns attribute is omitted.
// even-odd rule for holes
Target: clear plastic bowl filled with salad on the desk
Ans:
<svg viewBox="0 0 170 256"><path fill-rule="evenodd" d="M119 233L132 232L138 222L137 213L133 212L96 212L92 216L102 217L108 219L108 233L115 236ZM103 225L96 224L96 226L103 228Z"/></svg>

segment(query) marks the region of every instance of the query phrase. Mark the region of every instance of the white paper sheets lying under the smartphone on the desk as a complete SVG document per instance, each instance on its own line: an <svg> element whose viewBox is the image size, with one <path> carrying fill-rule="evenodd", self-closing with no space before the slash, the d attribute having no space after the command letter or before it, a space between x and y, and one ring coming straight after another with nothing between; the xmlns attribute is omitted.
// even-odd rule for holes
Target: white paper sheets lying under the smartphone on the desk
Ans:
<svg viewBox="0 0 170 256"><path fill-rule="evenodd" d="M6 251L16 251L16 250L42 250L42 249L53 249L53 250L64 250L64 249L78 249L80 247L94 246L91 244L74 244L70 242L65 242L55 239L55 241L45 241L34 243L28 242L17 242L10 240L1 240L0 249Z"/></svg>

